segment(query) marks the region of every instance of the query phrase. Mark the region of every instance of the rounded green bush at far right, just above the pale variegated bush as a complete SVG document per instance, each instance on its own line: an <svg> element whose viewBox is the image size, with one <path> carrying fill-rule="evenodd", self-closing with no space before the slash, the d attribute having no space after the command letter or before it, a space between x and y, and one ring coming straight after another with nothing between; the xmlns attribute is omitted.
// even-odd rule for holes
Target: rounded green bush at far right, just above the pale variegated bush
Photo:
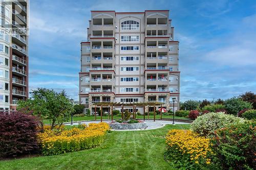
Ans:
<svg viewBox="0 0 256 170"><path fill-rule="evenodd" d="M237 115L243 109L251 109L252 105L239 98L231 98L225 101L225 109L228 114Z"/></svg>

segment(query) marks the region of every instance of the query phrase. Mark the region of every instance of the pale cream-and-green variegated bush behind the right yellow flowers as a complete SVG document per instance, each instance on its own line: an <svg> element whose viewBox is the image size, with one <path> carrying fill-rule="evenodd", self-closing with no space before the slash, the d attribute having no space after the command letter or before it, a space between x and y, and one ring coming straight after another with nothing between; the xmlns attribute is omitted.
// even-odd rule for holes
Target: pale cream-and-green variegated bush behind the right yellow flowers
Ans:
<svg viewBox="0 0 256 170"><path fill-rule="evenodd" d="M217 129L227 127L232 124L244 122L243 118L224 114L223 112L207 113L199 116L190 126L193 132L198 133L200 136L214 135Z"/></svg>

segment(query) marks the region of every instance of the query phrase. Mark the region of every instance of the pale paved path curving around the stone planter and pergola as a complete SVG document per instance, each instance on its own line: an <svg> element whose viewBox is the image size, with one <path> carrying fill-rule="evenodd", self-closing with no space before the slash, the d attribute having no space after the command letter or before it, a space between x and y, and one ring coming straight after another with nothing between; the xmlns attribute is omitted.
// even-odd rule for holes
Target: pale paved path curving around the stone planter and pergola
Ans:
<svg viewBox="0 0 256 170"><path fill-rule="evenodd" d="M110 123L111 120L102 120L102 122ZM88 125L90 123L100 123L100 120L97 120L97 121L81 121L81 123ZM165 125L172 125L173 124L172 121L167 121L167 120L156 120L156 122L154 122L154 120L145 120L145 123L148 126L145 130L158 129L158 128L161 128ZM189 124L189 123L175 122L175 124ZM70 124L65 124L65 125L70 125ZM78 125L78 122L73 123L73 125ZM141 130L141 129L115 130L115 131L137 131L137 130Z"/></svg>

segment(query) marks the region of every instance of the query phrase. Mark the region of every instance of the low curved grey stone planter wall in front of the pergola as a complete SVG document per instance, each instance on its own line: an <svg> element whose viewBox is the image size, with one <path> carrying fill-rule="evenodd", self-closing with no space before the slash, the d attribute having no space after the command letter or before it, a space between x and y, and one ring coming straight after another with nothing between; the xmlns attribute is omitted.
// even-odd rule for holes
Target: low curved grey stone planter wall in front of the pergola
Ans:
<svg viewBox="0 0 256 170"><path fill-rule="evenodd" d="M118 130L126 130L126 129L146 129L146 123L136 123L136 124L120 124L120 123L110 123L111 129L118 129Z"/></svg>

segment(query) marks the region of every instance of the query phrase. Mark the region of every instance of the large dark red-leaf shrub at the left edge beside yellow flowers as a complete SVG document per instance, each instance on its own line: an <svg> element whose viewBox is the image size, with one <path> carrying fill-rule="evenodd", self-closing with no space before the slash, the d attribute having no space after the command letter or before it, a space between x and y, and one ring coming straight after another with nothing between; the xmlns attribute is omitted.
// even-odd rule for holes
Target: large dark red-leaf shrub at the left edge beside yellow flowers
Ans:
<svg viewBox="0 0 256 170"><path fill-rule="evenodd" d="M37 117L20 112L0 114L0 157L33 153L38 147Z"/></svg>

